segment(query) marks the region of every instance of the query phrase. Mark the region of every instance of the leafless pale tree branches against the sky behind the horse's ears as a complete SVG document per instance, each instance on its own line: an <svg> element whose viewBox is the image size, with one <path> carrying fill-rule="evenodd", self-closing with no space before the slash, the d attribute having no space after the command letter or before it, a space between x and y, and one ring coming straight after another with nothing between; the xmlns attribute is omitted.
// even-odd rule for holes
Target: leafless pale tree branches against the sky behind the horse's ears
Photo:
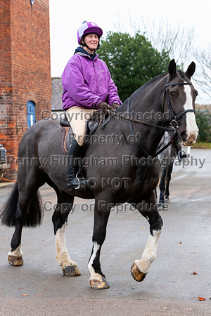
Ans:
<svg viewBox="0 0 211 316"><path fill-rule="evenodd" d="M195 29L191 27L173 26L167 20L151 20L143 16L134 20L129 16L130 26L124 23L120 15L115 20L114 27L117 32L143 34L158 51L166 51L170 58L174 58L181 70L186 70L186 62L196 62L196 74L193 77L193 84L199 92L198 103L211 103L211 44L206 50L195 47ZM127 25L127 27L125 26Z"/></svg>

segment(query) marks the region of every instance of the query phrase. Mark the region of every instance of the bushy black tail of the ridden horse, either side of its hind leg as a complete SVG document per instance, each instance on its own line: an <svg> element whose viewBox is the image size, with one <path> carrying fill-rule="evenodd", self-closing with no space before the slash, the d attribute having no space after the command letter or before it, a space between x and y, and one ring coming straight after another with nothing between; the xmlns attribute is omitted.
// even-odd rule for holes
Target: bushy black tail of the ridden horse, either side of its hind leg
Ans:
<svg viewBox="0 0 211 316"><path fill-rule="evenodd" d="M1 224L8 227L13 227L16 225L16 212L18 206L18 183L15 183L11 195L8 200L4 203L0 211ZM41 224L41 219L43 217L43 207L42 199L39 191L34 195L32 202L29 206L29 211L27 212L27 217L25 218L25 227L36 227Z"/></svg>

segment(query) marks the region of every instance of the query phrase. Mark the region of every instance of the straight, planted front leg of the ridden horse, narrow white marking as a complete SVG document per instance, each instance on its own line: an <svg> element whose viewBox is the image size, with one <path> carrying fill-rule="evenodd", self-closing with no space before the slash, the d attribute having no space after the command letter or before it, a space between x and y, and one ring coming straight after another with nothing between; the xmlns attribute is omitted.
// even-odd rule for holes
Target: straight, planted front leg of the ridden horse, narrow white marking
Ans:
<svg viewBox="0 0 211 316"><path fill-rule="evenodd" d="M106 239L106 226L110 210L107 206L100 206L101 202L95 202L94 207L94 232L92 237L92 251L89 258L88 268L91 273L90 286L92 289L108 289L109 284L106 281L105 275L101 270L100 254L101 246ZM104 204L104 202L103 202Z"/></svg>

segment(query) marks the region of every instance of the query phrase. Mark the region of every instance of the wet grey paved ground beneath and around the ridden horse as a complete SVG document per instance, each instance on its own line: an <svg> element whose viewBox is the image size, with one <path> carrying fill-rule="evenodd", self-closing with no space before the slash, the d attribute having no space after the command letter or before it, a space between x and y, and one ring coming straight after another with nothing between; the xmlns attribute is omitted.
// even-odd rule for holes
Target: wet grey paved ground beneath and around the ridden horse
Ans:
<svg viewBox="0 0 211 316"><path fill-rule="evenodd" d="M211 150L193 149L188 166L174 166L158 256L141 283L130 266L146 246L148 223L125 204L113 211L101 255L110 289L103 291L89 287L87 268L94 201L76 199L69 216L68 251L82 275L64 277L51 224L56 195L44 185L44 222L23 231L23 266L7 264L13 228L0 228L0 315L211 315L210 178ZM0 205L11 187L0 187Z"/></svg>

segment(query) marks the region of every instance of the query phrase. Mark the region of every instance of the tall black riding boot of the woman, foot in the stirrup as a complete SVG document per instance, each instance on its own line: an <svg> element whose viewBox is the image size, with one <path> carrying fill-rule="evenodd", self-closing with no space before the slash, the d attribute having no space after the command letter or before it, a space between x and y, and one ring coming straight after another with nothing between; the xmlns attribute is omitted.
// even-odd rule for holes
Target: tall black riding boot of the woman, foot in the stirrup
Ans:
<svg viewBox="0 0 211 316"><path fill-rule="evenodd" d="M68 150L68 189L83 190L88 183L88 180L77 178L79 161L82 157L83 146L78 145L77 140L72 140L72 144Z"/></svg>

